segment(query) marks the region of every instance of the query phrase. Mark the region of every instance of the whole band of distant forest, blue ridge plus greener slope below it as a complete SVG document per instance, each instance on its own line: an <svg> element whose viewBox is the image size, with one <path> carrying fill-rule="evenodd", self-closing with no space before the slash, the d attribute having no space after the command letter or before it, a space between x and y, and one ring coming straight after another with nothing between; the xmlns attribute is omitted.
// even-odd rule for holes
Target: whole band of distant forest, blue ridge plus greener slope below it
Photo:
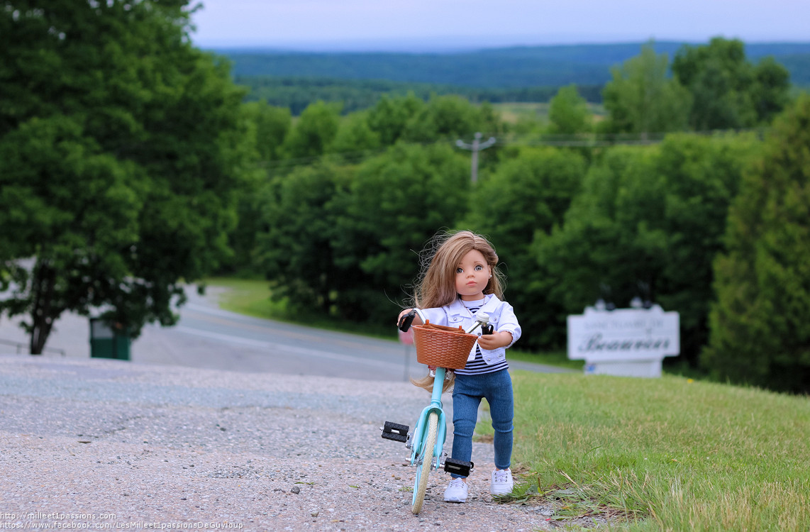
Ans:
<svg viewBox="0 0 810 532"><path fill-rule="evenodd" d="M651 43L668 57L684 43ZM288 107L297 116L318 100L343 104L343 113L367 109L383 94L458 94L473 102L548 102L573 83L589 102L601 103L611 68L640 53L642 44L539 46L470 53L283 53L224 49L248 100ZM747 57L773 57L796 87L810 86L810 43L752 44Z"/></svg>

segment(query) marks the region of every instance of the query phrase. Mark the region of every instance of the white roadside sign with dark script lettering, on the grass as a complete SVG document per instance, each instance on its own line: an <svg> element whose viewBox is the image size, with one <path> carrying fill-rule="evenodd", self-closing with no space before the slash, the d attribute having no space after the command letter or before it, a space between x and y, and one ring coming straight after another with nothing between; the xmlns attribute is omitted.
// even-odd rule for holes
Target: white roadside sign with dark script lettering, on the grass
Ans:
<svg viewBox="0 0 810 532"><path fill-rule="evenodd" d="M568 358L586 373L659 377L665 356L680 353L680 317L650 309L585 309L568 317Z"/></svg>

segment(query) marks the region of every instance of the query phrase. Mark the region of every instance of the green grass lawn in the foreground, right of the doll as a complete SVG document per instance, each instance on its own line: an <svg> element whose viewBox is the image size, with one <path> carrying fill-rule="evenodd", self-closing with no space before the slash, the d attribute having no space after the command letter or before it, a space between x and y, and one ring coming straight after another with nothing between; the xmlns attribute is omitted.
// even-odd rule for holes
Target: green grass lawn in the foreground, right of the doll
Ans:
<svg viewBox="0 0 810 532"><path fill-rule="evenodd" d="M613 530L810 530L810 398L515 372L515 498ZM616 521L618 519L618 521ZM565 521L563 521L565 522Z"/></svg>

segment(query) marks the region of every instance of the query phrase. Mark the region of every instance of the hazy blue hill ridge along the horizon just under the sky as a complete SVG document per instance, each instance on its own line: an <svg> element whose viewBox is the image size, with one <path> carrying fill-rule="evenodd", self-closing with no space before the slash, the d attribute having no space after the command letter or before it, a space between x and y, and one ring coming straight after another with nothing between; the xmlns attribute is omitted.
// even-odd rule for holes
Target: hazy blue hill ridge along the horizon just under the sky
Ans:
<svg viewBox="0 0 810 532"><path fill-rule="evenodd" d="M656 42L672 57L682 42ZM695 43L689 43L695 45ZM558 45L482 49L462 53L310 53L269 49L215 49L233 63L233 74L253 76L385 79L457 87L599 86L610 67L640 53L643 43ZM791 82L810 87L810 42L746 45L748 58L774 56L791 72Z"/></svg>

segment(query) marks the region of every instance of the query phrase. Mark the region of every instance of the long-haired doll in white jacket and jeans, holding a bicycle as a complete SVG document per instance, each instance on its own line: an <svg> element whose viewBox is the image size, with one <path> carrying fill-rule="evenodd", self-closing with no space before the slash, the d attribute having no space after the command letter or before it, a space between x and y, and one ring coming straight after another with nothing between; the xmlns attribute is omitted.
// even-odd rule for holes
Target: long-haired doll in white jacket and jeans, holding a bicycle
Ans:
<svg viewBox="0 0 810 532"><path fill-rule="evenodd" d="M467 366L455 370L453 387L453 455L470 462L472 434L478 419L481 399L486 398L495 430L495 467L490 493L512 492L514 481L509 470L512 456L512 419L514 398L505 351L520 338L521 329L512 306L503 297L502 275L497 270L498 256L484 236L461 231L440 233L421 254L422 274L413 296L416 324L430 321L436 325L462 326L467 330L475 314L486 312L492 334L483 334L473 347ZM399 317L409 313L404 309ZM399 321L399 319L398 319ZM431 389L433 378L414 384ZM445 500L467 500L467 478L452 475L445 489Z"/></svg>

